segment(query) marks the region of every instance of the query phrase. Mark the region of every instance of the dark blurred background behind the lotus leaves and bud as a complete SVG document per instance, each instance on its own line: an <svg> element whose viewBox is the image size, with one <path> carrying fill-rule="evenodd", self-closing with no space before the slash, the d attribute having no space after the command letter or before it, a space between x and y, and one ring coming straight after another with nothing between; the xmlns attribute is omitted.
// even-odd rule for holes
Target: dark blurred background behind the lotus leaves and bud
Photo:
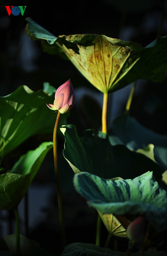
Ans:
<svg viewBox="0 0 167 256"><path fill-rule="evenodd" d="M26 5L27 7L23 16L21 14L9 16L5 8L7 5ZM0 96L12 93L20 85L26 85L33 91L37 91L43 88L44 82L49 82L57 88L71 78L76 94L76 104L70 111L68 123L74 123L80 134L88 128L99 129L102 93L94 88L70 61L61 59L58 55L44 53L40 41L32 41L26 36L25 18L30 17L55 36L103 34L111 38L135 41L145 47L158 36L167 35L166 14L167 1L165 0L85 0L46 1L44 3L41 1L1 1ZM145 80L138 81L130 112L141 124L161 134L167 132L167 118L164 118L167 107L166 82L167 79L157 84ZM131 85L110 96L112 120L124 112L130 88ZM90 99L94 100L92 111L96 116L96 121L87 115ZM40 136L30 138L17 150L27 151L32 148L32 145L38 146L43 140L52 140L52 135L44 138ZM63 137L59 138L58 143L59 164L66 177L64 179L64 174L61 174L67 243L95 243L96 212L90 209L74 191L73 171L62 156ZM11 157L14 161L14 155L12 152L9 159ZM57 251L60 245L57 199L54 192L53 159L52 152L50 152L29 190L28 237L39 242L43 248L52 253L55 252L55 246ZM36 193L36 198L33 193ZM38 201L38 206L35 205L34 198ZM24 201L20 206L21 232L25 234L23 204ZM14 232L13 214L12 212L3 214L1 235L6 235ZM104 226L102 230L101 245L104 246L107 232ZM113 239L113 241L112 248L115 248L114 246L118 243L119 250L126 250L127 244L122 239ZM120 243L122 247L119 247Z"/></svg>

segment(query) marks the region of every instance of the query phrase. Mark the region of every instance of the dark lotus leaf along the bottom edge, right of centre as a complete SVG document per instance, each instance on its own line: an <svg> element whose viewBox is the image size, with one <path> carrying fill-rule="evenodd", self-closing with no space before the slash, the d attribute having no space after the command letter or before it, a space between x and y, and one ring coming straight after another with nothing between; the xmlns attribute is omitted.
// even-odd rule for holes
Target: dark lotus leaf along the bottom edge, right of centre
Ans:
<svg viewBox="0 0 167 256"><path fill-rule="evenodd" d="M61 256L127 256L127 252L112 251L88 243L72 243L64 247ZM140 252L131 252L132 256L139 256ZM166 252L150 250L144 252L145 256L166 256Z"/></svg>

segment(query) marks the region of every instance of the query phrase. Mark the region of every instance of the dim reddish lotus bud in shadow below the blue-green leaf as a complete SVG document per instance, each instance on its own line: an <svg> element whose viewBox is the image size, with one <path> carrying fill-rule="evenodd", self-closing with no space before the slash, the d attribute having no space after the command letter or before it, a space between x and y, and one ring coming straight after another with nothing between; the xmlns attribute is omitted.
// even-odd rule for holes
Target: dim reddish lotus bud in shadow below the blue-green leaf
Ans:
<svg viewBox="0 0 167 256"><path fill-rule="evenodd" d="M147 233L147 220L145 217L136 218L127 228L127 236L135 243L143 242Z"/></svg>

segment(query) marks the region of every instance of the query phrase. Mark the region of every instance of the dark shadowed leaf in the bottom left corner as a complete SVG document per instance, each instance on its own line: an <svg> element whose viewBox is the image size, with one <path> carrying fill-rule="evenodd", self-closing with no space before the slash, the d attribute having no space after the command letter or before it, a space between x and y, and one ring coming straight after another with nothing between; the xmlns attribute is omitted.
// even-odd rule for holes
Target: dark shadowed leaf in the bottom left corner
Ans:
<svg viewBox="0 0 167 256"><path fill-rule="evenodd" d="M3 240L7 244L10 252L15 253L16 235L12 234L9 236L5 236ZM26 255L26 256L37 256L37 255L53 256L53 254L47 252L42 247L40 247L40 245L36 241L30 240L21 234L20 234L20 252L21 252L21 255Z"/></svg>

